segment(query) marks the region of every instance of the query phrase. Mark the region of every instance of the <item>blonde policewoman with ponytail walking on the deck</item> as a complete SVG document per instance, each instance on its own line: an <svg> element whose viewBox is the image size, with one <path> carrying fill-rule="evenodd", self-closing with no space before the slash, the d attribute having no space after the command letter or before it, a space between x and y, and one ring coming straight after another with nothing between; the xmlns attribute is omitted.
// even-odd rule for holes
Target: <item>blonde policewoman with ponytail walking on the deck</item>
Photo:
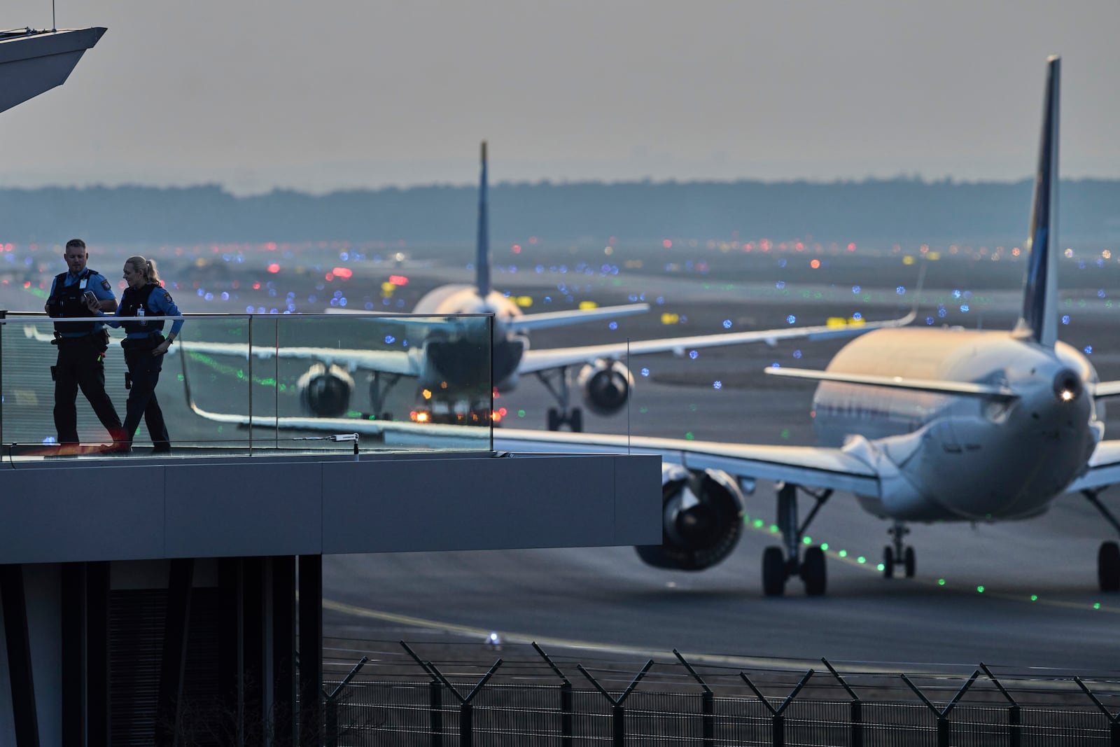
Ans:
<svg viewBox="0 0 1120 747"><path fill-rule="evenodd" d="M167 423L164 422L164 411L156 400L156 384L159 372L164 368L164 354L175 342L183 328L183 319L171 323L171 332L164 336L164 319L177 317L179 308L171 300L171 295L159 282L156 263L142 256L130 256L124 260L124 282L128 288L121 295L121 305L116 307L114 317L120 321L110 320L103 311L96 314L106 319L112 327L124 327L128 333L121 347L124 348L124 363L129 367L131 390L124 413L124 438L129 445L140 427L143 417L151 436L152 451L167 454L171 450ZM95 306L90 302L90 310ZM130 319L129 317L134 317Z"/></svg>

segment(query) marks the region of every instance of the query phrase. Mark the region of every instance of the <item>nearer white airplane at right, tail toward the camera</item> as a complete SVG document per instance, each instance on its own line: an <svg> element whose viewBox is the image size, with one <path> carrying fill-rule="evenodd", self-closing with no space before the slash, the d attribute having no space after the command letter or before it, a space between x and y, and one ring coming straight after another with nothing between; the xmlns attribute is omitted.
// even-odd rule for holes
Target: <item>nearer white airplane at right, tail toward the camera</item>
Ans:
<svg viewBox="0 0 1120 747"><path fill-rule="evenodd" d="M778 480L783 545L763 554L768 596L782 595L795 576L806 594L824 594L823 550L801 552L833 491L855 494L864 510L893 522L883 554L888 578L896 566L914 576L914 549L903 542L907 522L1027 519L1080 492L1120 531L1098 498L1120 480L1120 441L1101 440L1095 408L1120 395L1120 381L1100 382L1084 355L1057 340L1060 73L1051 57L1023 316L1014 330L881 329L848 343L824 371L766 368L820 382L812 414L821 447L498 429L494 448L660 452L664 543L638 554L661 568L701 570L725 559L743 529L738 480ZM799 488L815 501L803 521ZM1103 591L1120 590L1116 541L1101 544L1098 581Z"/></svg>

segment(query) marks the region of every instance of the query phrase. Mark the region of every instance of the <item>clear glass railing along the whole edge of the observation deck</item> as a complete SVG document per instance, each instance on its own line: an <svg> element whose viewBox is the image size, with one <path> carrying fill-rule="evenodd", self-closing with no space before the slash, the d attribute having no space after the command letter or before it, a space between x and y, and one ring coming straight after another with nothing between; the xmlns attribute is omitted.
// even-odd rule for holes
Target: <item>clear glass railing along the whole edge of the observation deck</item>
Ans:
<svg viewBox="0 0 1120 747"><path fill-rule="evenodd" d="M81 392L81 445L57 445L55 321L0 319L6 459L111 451L110 433ZM156 389L172 456L489 450L491 326L487 316L190 315ZM109 335L105 391L123 422L124 335ZM141 420L130 456L148 456L152 446Z"/></svg>

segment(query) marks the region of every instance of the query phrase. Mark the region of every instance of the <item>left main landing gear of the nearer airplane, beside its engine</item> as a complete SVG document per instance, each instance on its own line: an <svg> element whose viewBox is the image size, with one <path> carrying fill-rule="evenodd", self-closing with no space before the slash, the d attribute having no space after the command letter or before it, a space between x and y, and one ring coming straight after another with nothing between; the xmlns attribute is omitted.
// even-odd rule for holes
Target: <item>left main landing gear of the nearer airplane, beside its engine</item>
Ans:
<svg viewBox="0 0 1120 747"><path fill-rule="evenodd" d="M797 488L799 486L792 483L778 483L777 525L782 532L784 548L771 545L763 552L763 594L767 597L780 597L785 594L785 582L794 576L801 577L805 585L805 594L810 597L823 595L828 587L824 550L820 545L813 545L805 550L804 560L800 555L805 530L832 495L832 491L816 494L801 488L816 501L816 505L809 512L805 523L799 526Z"/></svg>

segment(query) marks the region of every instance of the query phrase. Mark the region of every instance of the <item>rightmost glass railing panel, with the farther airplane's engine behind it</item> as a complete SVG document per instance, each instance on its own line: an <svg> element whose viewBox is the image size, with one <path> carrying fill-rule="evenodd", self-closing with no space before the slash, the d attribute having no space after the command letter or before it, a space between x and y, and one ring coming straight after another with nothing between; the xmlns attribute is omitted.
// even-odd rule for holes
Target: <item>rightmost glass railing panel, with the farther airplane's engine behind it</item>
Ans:
<svg viewBox="0 0 1120 747"><path fill-rule="evenodd" d="M274 402L259 407L255 438L272 418L278 448L337 450L334 438L357 433L362 451L489 449L491 317L274 319Z"/></svg>

